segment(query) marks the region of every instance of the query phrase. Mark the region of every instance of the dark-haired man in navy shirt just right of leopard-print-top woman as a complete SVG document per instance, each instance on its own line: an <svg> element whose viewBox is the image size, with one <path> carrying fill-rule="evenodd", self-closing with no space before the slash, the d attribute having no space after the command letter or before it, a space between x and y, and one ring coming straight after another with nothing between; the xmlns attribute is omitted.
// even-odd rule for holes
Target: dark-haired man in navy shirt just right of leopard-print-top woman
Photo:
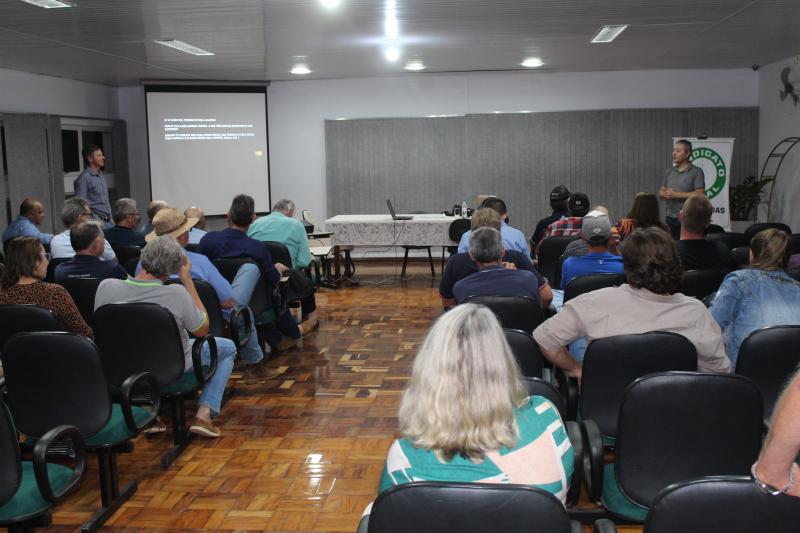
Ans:
<svg viewBox="0 0 800 533"><path fill-rule="evenodd" d="M70 278L128 279L128 273L119 263L100 260L104 238L103 228L97 220L78 222L72 226L69 240L75 257L56 267L56 283Z"/></svg>

